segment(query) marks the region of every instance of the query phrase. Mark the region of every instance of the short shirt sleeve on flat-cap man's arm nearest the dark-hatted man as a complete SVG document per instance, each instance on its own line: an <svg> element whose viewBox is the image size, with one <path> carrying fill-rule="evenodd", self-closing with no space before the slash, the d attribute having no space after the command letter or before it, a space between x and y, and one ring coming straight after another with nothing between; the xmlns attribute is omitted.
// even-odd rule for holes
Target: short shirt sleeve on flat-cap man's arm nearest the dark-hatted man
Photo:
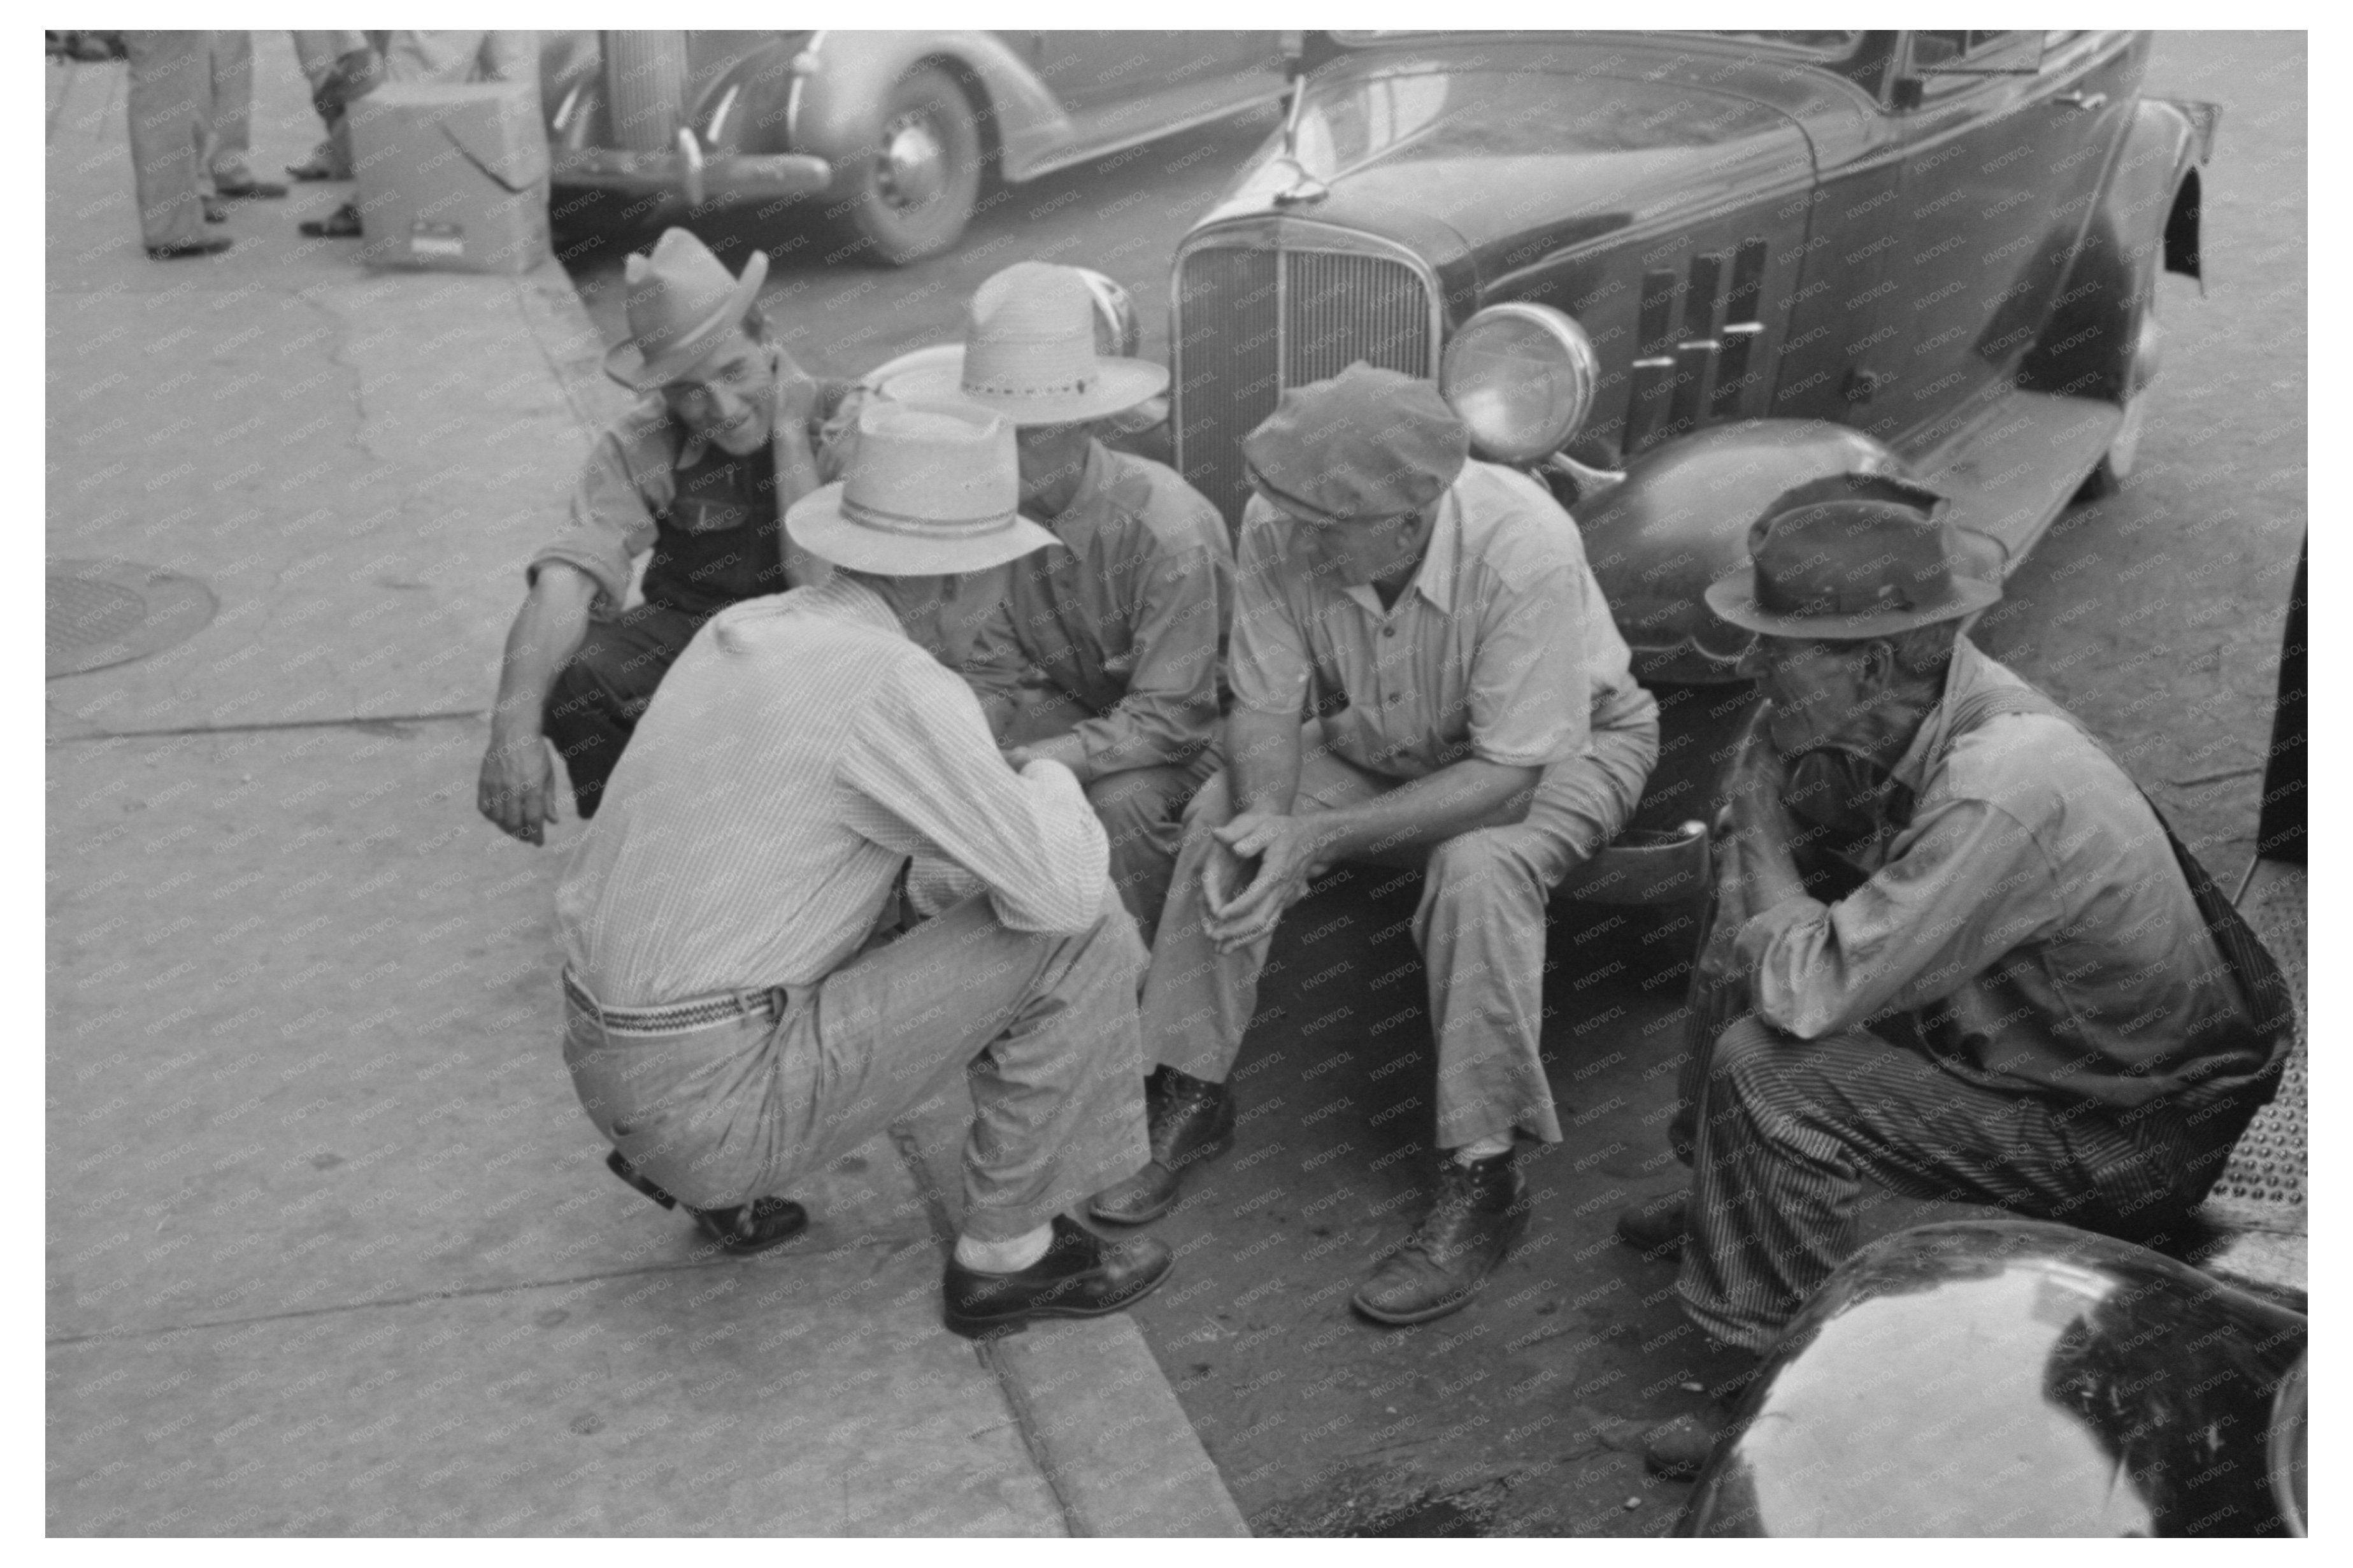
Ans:
<svg viewBox="0 0 2353 1568"><path fill-rule="evenodd" d="M1586 596L1567 565L1499 591L1480 614L1471 664L1471 753L1546 768L1586 749Z"/></svg>

